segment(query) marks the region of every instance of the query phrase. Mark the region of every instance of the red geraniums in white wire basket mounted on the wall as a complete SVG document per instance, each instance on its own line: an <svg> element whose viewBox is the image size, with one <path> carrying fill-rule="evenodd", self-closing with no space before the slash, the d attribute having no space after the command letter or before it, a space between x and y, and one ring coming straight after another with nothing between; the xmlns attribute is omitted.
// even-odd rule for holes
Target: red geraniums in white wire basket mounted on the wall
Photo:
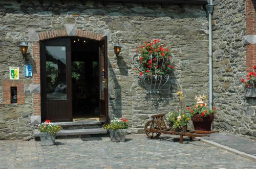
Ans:
<svg viewBox="0 0 256 169"><path fill-rule="evenodd" d="M160 40L144 42L134 55L133 62L138 78L147 93L159 93L160 89L174 71L174 55L170 53L170 46L162 44Z"/></svg>

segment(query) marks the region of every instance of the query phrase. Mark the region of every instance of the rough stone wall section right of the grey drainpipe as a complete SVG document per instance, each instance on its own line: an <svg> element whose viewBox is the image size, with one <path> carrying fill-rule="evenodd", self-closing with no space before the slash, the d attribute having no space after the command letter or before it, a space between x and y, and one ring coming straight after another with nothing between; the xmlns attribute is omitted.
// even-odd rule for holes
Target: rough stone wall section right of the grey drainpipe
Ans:
<svg viewBox="0 0 256 169"><path fill-rule="evenodd" d="M255 138L256 100L245 97L245 1L216 0L213 14L214 105L219 109L215 127ZM220 38L221 37L221 38Z"/></svg>

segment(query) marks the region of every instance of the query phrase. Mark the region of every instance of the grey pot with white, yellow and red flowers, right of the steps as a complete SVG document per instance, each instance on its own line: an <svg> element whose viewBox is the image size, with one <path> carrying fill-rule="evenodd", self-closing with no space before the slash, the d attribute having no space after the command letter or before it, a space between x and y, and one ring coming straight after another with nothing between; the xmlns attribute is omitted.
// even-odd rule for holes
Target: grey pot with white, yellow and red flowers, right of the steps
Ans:
<svg viewBox="0 0 256 169"><path fill-rule="evenodd" d="M112 142L125 142L128 124L123 118L114 118L109 124L103 125L103 129L109 130Z"/></svg>

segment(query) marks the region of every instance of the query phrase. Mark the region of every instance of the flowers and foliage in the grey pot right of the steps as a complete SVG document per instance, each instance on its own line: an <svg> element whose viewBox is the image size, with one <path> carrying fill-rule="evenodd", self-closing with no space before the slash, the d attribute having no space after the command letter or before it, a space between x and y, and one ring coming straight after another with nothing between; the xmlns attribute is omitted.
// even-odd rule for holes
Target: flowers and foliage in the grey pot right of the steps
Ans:
<svg viewBox="0 0 256 169"><path fill-rule="evenodd" d="M108 130L108 129L111 129L111 130L127 129L128 124L126 122L127 122L126 119L114 118L113 120L111 120L111 122L109 124L103 125L103 129L104 130Z"/></svg>

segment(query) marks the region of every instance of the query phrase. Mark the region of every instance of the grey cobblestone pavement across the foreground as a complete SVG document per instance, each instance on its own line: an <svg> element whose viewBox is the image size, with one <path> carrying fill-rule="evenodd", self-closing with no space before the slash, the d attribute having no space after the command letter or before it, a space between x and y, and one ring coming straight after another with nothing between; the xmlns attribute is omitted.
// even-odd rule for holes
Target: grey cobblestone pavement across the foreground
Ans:
<svg viewBox="0 0 256 169"><path fill-rule="evenodd" d="M198 141L126 138L57 139L56 146L46 147L34 140L0 140L0 168L256 168L256 162Z"/></svg>

